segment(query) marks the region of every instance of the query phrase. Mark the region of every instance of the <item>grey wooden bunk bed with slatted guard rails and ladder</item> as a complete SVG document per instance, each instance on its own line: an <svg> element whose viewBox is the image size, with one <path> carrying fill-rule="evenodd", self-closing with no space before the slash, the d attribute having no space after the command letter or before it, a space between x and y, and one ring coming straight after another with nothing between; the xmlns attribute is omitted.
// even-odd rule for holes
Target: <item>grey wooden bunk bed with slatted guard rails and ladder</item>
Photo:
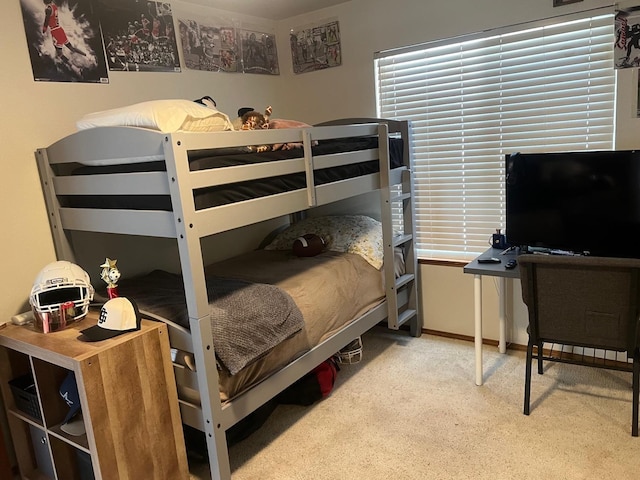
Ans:
<svg viewBox="0 0 640 480"><path fill-rule="evenodd" d="M302 147L263 153L247 147L288 143ZM385 320L391 329L406 324L412 335L421 333L406 121L341 119L301 129L212 133L94 127L38 149L36 159L59 259L77 261L74 232L175 240L180 272L154 271L150 252L151 277L137 285L152 287L156 296L146 299L151 304L167 284L182 291L176 302L185 307L181 321L175 312L142 310L169 325L182 420L205 433L214 479L231 475L226 430L316 365ZM300 219L301 212L310 212L313 218L323 205L371 192L379 192L380 198L381 268L371 267L354 253L329 251L298 262L295 272L276 271L281 257L291 258L289 251L277 248L206 264L205 238L269 219ZM398 250L404 262L400 273L395 268ZM302 328L313 337L302 343L300 334L285 335L281 344L260 358L273 362L268 367L257 363L239 367L249 371L241 381L220 368L210 321L212 277L280 284L286 291L287 276L324 268L325 273L315 270L313 276L319 278L330 275L341 262L351 268L356 265L360 271L351 273L356 277L366 269L382 277L379 291L364 285L362 291L353 292L366 297L364 291L373 291L350 314L354 318L314 335ZM249 267L255 265L260 265L257 276ZM265 274L272 271L276 278ZM295 283L299 285L298 277ZM313 281L309 285L314 288ZM144 302L143 291L131 292ZM308 309L301 310L303 316L309 315ZM288 353L283 353L286 348Z"/></svg>

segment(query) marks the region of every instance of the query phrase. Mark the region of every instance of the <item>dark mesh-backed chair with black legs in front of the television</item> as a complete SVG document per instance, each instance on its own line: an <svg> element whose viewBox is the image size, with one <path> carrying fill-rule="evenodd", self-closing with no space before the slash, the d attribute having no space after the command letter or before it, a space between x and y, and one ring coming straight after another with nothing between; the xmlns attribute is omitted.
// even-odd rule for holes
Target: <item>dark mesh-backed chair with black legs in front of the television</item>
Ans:
<svg viewBox="0 0 640 480"><path fill-rule="evenodd" d="M543 360L631 371L631 434L637 437L640 260L527 254L518 257L518 264L522 298L529 310L524 414L529 415L534 358L539 374ZM545 344L626 352L633 364L606 360L602 355L559 354L553 349L545 353Z"/></svg>

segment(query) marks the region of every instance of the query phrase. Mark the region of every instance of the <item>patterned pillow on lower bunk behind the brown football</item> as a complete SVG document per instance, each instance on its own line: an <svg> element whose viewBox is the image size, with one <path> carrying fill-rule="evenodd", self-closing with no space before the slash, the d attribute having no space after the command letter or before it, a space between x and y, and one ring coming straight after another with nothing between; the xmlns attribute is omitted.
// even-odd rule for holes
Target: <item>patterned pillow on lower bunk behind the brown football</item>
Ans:
<svg viewBox="0 0 640 480"><path fill-rule="evenodd" d="M382 224L366 215L305 218L279 233L265 249L291 250L294 240L307 233L321 236L327 250L356 253L378 270L382 268Z"/></svg>

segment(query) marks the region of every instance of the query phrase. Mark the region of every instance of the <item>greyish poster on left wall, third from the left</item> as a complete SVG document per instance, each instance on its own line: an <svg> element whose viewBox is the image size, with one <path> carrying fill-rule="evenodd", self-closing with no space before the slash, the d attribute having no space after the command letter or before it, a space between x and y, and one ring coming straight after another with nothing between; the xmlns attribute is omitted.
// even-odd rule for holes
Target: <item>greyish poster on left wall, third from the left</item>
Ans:
<svg viewBox="0 0 640 480"><path fill-rule="evenodd" d="M178 29L187 68L211 72L238 71L239 48L234 27L180 19Z"/></svg>

